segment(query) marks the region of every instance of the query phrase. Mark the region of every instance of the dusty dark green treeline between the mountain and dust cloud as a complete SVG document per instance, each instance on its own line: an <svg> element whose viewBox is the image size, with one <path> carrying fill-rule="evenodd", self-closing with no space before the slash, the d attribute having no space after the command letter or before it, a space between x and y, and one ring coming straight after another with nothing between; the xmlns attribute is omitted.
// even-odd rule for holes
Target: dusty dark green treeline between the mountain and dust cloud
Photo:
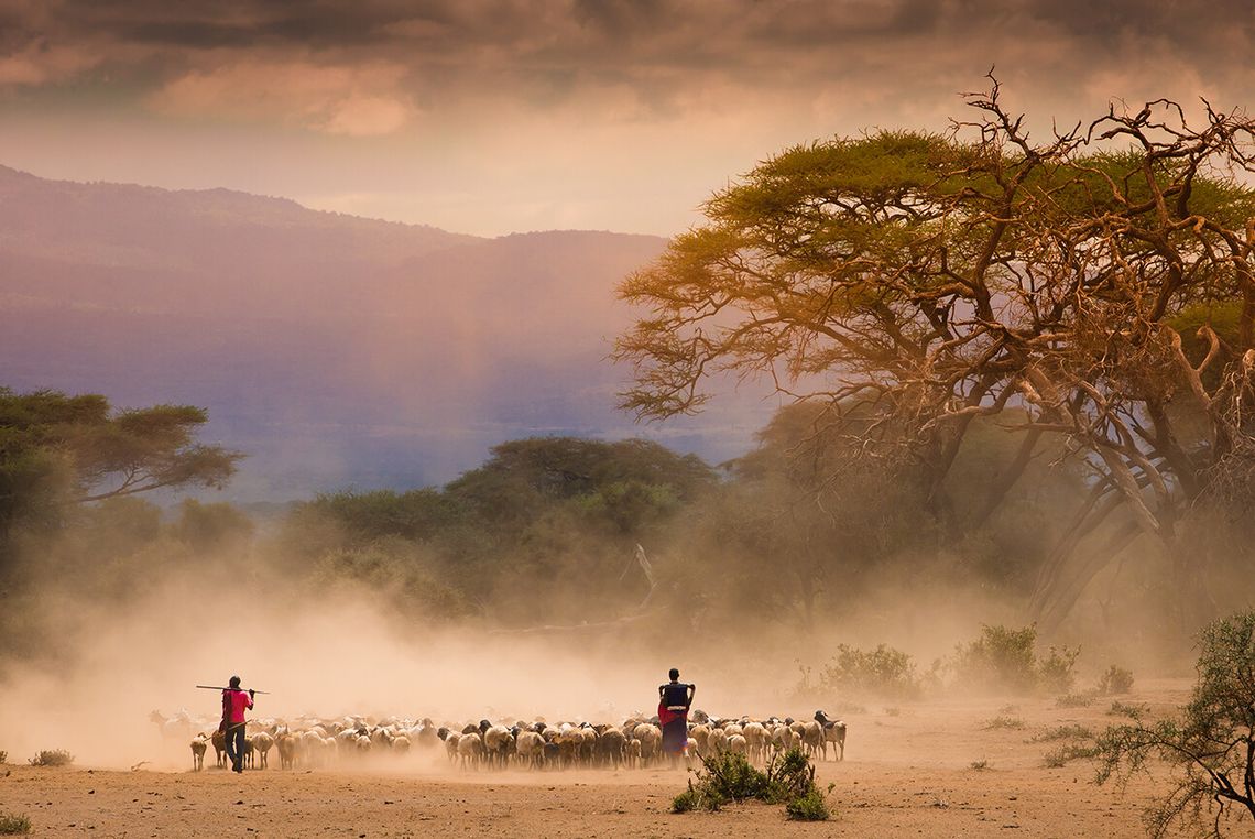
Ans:
<svg viewBox="0 0 1255 839"><path fill-rule="evenodd" d="M3 634L8 652L26 653L65 637L56 604L124 604L190 574L211 597L241 579L302 595L351 589L408 620L503 629L804 629L901 579L1017 598L1053 541L1055 507L1083 482L1067 458L1042 457L985 515L973 499L1014 456L993 422L940 500L910 463L850 465L821 409L799 404L718 467L643 440L517 440L444 487L319 495L259 526L228 504L163 512L143 497L230 479L240 455L196 442L201 411L10 391L0 411ZM838 462L848 468L835 479Z"/></svg>

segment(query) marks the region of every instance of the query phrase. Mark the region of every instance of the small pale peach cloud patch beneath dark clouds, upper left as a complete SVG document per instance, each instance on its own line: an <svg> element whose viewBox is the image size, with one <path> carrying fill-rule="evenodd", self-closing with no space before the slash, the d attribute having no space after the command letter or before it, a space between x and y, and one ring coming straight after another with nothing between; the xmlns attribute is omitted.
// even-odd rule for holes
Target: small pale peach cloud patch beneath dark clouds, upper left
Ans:
<svg viewBox="0 0 1255 839"><path fill-rule="evenodd" d="M404 68L310 60L241 62L192 70L148 97L154 111L182 118L275 121L351 137L389 134L417 113L399 82Z"/></svg>

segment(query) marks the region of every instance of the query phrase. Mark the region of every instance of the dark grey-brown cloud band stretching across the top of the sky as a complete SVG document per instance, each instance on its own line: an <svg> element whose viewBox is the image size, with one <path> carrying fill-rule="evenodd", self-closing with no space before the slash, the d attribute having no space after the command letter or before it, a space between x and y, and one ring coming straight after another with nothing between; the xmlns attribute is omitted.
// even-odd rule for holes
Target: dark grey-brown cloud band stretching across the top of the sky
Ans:
<svg viewBox="0 0 1255 839"><path fill-rule="evenodd" d="M50 85L102 65L139 79L139 102L186 116L294 121L354 136L399 131L424 111L517 100L579 103L590 118L675 121L774 97L808 107L979 87L993 63L1034 90L1087 87L1146 67L1252 78L1255 33L1241 0L0 0L0 85ZM53 14L55 13L55 14ZM19 33L13 35L11 33ZM23 39L26 39L25 41ZM33 48L30 39L43 46ZM1157 62L1146 62L1146 55ZM95 58L87 59L87 55ZM380 83L378 67L392 69ZM346 70L353 75L344 82ZM276 78L257 73L274 72ZM296 78L297 74L307 79ZM235 82L252 80L250 92ZM103 83L107 84L107 83ZM1180 85L1177 85L1180 87ZM319 92L311 92L318 88ZM290 94L289 94L290 92ZM630 92L624 93L624 92ZM904 93L905 92L905 93ZM1111 90L1109 95L1121 95ZM286 104L285 104L286 103ZM917 108L910 104L909 108ZM876 117L872 117L875 119Z"/></svg>

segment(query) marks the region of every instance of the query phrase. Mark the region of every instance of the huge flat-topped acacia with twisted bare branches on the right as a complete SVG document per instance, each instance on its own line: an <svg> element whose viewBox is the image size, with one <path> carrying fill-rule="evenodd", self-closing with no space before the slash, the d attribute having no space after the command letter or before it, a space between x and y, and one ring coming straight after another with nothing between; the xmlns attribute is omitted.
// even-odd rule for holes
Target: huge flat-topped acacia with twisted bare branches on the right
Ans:
<svg viewBox="0 0 1255 839"><path fill-rule="evenodd" d="M943 512L973 420L1014 407L1020 447L983 515L1045 435L1091 472L1040 569L1043 628L1138 536L1196 620L1181 520L1255 462L1255 191L1235 176L1255 123L1206 106L1195 128L1158 100L1035 143L996 80L968 104L976 118L946 134L794 147L715 193L708 224L620 286L645 311L616 343L635 371L622 406L665 418L700 409L712 376L768 377ZM1236 334L1204 323L1191 355L1173 323L1215 305L1236 306Z"/></svg>

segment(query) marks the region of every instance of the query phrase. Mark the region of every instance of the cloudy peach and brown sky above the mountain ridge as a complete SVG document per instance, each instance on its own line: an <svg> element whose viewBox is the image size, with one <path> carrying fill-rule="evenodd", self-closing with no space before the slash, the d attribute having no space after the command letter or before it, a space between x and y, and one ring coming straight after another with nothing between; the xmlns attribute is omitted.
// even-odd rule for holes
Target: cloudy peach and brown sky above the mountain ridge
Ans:
<svg viewBox="0 0 1255 839"><path fill-rule="evenodd" d="M784 148L1255 98L1239 0L0 0L0 165L670 236Z"/></svg>

